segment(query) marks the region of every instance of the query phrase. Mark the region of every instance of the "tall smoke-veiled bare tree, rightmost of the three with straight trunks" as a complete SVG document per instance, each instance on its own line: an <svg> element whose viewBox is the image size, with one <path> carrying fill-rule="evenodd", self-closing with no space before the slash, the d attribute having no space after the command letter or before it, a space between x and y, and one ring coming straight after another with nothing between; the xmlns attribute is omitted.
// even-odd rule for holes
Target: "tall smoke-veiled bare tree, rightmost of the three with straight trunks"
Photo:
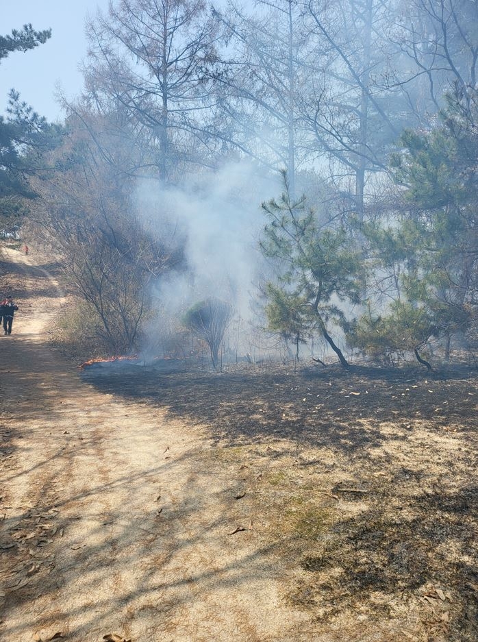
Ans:
<svg viewBox="0 0 478 642"><path fill-rule="evenodd" d="M382 82L390 5L390 0L307 2L305 19L316 43L309 64L320 73L303 99L301 116L359 219L366 182L386 171L387 153L402 127L403 105Z"/></svg>

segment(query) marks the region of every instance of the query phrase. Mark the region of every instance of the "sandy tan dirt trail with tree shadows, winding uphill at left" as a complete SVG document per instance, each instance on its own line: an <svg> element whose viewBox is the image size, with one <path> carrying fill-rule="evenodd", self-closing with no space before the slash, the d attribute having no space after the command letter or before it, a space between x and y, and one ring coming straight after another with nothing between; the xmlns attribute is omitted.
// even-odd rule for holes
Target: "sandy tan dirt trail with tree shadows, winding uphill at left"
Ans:
<svg viewBox="0 0 478 642"><path fill-rule="evenodd" d="M1 641L298 639L273 558L228 534L234 484L208 474L206 431L81 380L47 342L58 284L9 259L46 295L0 336Z"/></svg>

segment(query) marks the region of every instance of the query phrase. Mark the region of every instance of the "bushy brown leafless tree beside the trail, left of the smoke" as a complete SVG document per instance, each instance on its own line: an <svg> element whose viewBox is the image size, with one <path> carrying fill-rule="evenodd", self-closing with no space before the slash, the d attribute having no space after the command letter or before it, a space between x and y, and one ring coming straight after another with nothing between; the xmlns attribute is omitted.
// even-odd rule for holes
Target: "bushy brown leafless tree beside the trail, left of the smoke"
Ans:
<svg viewBox="0 0 478 642"><path fill-rule="evenodd" d="M34 182L32 221L38 241L60 260L68 289L94 310L86 330L118 354L138 345L150 286L181 262L181 247L164 229L151 236L138 218L133 182L118 172L127 145L83 123L71 117L70 134L50 159L58 170Z"/></svg>

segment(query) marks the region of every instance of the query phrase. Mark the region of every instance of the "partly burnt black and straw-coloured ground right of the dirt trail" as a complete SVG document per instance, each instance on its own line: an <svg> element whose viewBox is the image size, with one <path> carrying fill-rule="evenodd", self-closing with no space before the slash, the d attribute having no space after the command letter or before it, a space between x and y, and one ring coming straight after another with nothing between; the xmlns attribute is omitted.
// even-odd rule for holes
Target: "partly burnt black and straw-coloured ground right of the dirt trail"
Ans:
<svg viewBox="0 0 478 642"><path fill-rule="evenodd" d="M477 639L475 370L128 374L84 376L207 428L198 471L241 486L225 515L273 550L283 600L317 635Z"/></svg>

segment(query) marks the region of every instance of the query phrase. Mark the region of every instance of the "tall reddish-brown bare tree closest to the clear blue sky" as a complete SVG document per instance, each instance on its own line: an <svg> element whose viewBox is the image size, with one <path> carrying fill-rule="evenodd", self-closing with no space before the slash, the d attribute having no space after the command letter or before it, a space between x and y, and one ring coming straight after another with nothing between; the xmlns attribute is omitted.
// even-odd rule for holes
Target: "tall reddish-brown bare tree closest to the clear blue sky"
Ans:
<svg viewBox="0 0 478 642"><path fill-rule="evenodd" d="M88 92L103 109L123 106L135 131L147 132L160 179L205 162L205 68L216 60L216 36L204 3L119 0L90 22L88 36Z"/></svg>

